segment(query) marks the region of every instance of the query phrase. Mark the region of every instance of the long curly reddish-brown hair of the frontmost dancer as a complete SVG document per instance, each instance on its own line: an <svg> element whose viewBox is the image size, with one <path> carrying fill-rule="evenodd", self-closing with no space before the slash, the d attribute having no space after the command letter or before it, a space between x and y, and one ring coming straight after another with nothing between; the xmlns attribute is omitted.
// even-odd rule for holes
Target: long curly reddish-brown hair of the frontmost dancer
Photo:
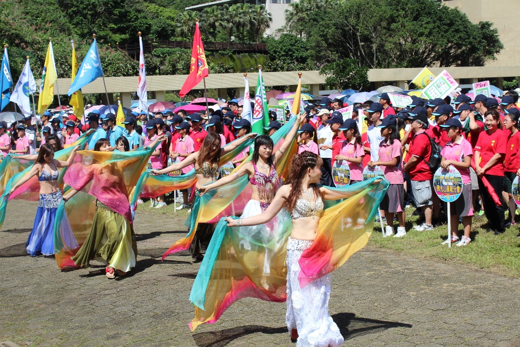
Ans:
<svg viewBox="0 0 520 347"><path fill-rule="evenodd" d="M291 166L289 168L289 177L287 178L287 184L291 185L291 192L287 197L287 210L292 211L296 206L296 201L302 195L302 181L307 174L307 169L314 169L317 166L323 165L323 160L313 152L303 151L297 154L291 160ZM317 184L311 184L314 195L323 199L320 188Z"/></svg>

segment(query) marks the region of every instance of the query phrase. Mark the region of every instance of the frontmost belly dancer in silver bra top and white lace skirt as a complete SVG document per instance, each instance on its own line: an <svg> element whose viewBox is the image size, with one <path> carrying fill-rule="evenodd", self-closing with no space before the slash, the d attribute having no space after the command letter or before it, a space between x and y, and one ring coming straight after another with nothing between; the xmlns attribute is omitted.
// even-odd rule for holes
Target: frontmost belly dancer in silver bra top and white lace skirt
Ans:
<svg viewBox="0 0 520 347"><path fill-rule="evenodd" d="M340 192L319 186L323 161L315 153L304 151L294 156L288 184L278 189L275 198L262 214L245 218L228 217L228 226L252 226L264 224L280 211L289 211L292 232L287 243L287 315L285 322L297 347L335 347L343 343L337 325L329 315L331 274L300 286L298 263L302 253L309 248L318 233L323 211L323 199L348 198Z"/></svg>

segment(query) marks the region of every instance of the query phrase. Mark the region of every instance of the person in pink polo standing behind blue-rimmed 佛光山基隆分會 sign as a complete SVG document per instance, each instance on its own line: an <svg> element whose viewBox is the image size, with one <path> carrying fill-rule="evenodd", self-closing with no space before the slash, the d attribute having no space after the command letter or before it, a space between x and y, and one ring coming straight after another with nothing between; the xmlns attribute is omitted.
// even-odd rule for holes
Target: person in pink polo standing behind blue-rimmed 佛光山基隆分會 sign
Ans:
<svg viewBox="0 0 520 347"><path fill-rule="evenodd" d="M451 208L451 242L457 242L457 246L466 246L470 243L471 219L473 216L473 203L471 192L470 163L473 157L473 149L468 140L462 136L463 126L457 119L449 119L446 124L441 125L446 130L450 141L440 152L442 156L440 167L448 169L450 165L455 166L462 176L462 194L454 202L450 202ZM445 203L446 204L446 203ZM462 217L464 236L459 239L459 219ZM448 240L443 242L443 245Z"/></svg>

